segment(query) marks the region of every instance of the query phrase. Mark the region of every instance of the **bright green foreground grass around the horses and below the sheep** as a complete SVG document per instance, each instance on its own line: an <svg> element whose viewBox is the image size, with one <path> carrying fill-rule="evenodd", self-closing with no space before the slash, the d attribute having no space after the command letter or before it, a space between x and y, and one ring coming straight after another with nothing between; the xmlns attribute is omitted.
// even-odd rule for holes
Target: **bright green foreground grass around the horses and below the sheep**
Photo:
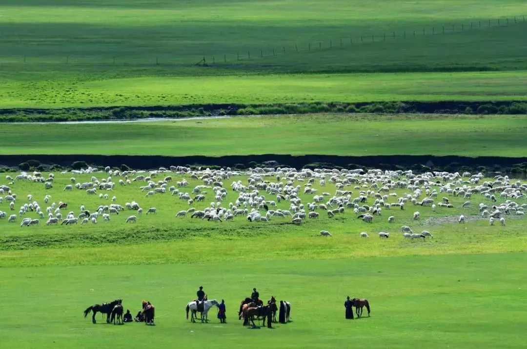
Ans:
<svg viewBox="0 0 527 349"><path fill-rule="evenodd" d="M54 187L47 191L43 184L11 185L18 194L17 206L30 193L39 202L45 194L54 202L67 201L75 212L80 204L92 208L109 202L84 191L64 192L71 174L55 175ZM181 179L173 176L174 181ZM75 177L84 182L91 175ZM240 176L224 183L234 179L246 181ZM189 189L201 184L188 180ZM109 341L115 347L147 341L162 347L523 345L527 308L519 300L527 287L525 221L506 216L505 227L489 226L476 206L492 203L481 196L475 196L468 208L461 207L463 198L448 196L455 207L437 207L435 213L431 207L414 210L411 205L404 211L385 210L372 224L357 220L350 210L332 219L321 211L318 220L295 226L281 218L268 223L249 223L245 217L223 223L175 218L175 212L189 207L186 202L168 194L146 198L140 185L132 182L111 193L121 204L135 199L144 208L158 207L157 215L142 215L136 224L124 223L126 211L112 215L110 222L87 226L26 228L0 220L0 302L11 310L12 318L3 327L4 345L100 347ZM333 185L314 187L322 192ZM358 191L353 191L355 196ZM405 190L395 192L400 196ZM229 191L225 202L236 196ZM302 202L310 196L300 194ZM288 203L278 207L287 208ZM5 202L0 210L10 212ZM422 217L414 222L416 210ZM465 224L456 223L461 213L468 217ZM393 225L387 223L389 215L396 217ZM430 230L434 238L404 241L397 232L403 224L418 232ZM322 229L333 236L318 236ZM362 231L370 237L359 237ZM378 231L392 236L380 239ZM228 324L220 325L215 312L209 324L186 320L184 305L200 284L210 297L226 300ZM272 335L267 328L243 328L236 318L237 304L255 286L264 300L275 295L292 302L292 322L276 324ZM367 297L372 316L345 321L342 303L348 294ZM159 316L157 326L92 325L82 317L85 307L116 297L123 298L132 313L141 300L150 300ZM101 316L97 321L103 322Z"/></svg>

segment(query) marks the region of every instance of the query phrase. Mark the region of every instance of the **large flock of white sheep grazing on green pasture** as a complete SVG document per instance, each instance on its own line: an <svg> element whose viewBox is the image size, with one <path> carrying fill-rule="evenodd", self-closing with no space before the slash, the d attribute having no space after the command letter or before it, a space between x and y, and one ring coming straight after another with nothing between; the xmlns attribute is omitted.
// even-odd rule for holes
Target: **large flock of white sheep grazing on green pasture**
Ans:
<svg viewBox="0 0 527 349"><path fill-rule="evenodd" d="M110 221L112 215L120 212L134 212L123 221L135 223L142 215L143 208L135 201L124 205L117 203L113 193L119 187L138 186L138 197L154 195L172 195L180 202L190 206L187 210L175 213L181 219L201 219L212 222L225 222L243 217L248 222L269 222L275 219L289 218L292 224L301 225L306 219L317 219L325 212L328 218L353 212L353 216L365 223L382 219L383 213L389 210L407 210L408 206L430 206L435 212L437 207L453 208L449 197L462 197L464 203L458 208L470 208L474 197L479 196L485 202L479 203L482 217L489 219L494 225L499 221L505 225L506 215L523 216L527 204L517 201L524 200L527 184L512 181L508 176L495 176L492 180L484 180L484 176L471 173L427 172L414 174L412 171L381 171L372 169L302 169L294 168L253 168L248 171L234 171L230 168L210 170L192 170L183 166L159 168L155 171L118 171L106 167L104 171L87 168L82 171L62 172L70 175L71 184L63 188L66 192L84 191L86 195L98 195L101 199L110 200L108 205L86 209L84 205L79 211L70 211L67 202L53 202L51 195L45 195L39 203L32 194L24 201L15 192L17 182L28 181L43 185L50 190L54 185L54 175L46 178L41 173L21 173L14 177L7 175L7 184L0 185L0 204L5 202L11 214L0 211L0 220L7 218L10 223L21 219L21 226L33 226L45 220L47 225L97 224L97 221ZM91 180L77 182L75 176L91 174ZM241 179L246 176L247 179ZM172 181L172 177L181 181ZM201 184L190 186L186 178ZM224 182L228 182L224 183ZM314 188L318 184L320 191ZM62 187L62 186L61 186ZM330 187L332 189L330 189ZM328 188L327 191L323 191ZM395 190L402 190L398 195ZM232 194L229 194L232 192ZM354 194L355 192L355 194ZM300 196L309 195L310 200L302 202ZM441 196L441 199L439 197ZM230 199L228 199L230 198ZM139 200L139 198L138 198ZM20 204L24 201L23 204ZM197 210L193 205L210 201L207 207ZM500 202L498 202L500 201ZM228 203L227 203L228 202ZM17 205L18 203L18 205ZM277 208L279 206L287 207ZM17 207L15 208L15 205ZM2 207L2 206L0 206ZM16 214L18 210L18 214ZM163 210L170 210L169 207ZM412 210L414 211L414 210ZM34 212L39 218L24 217ZM158 210L149 207L145 214L155 214ZM421 218L419 211L410 216L414 221ZM408 217L408 218L410 218ZM458 223L465 223L467 217L461 215ZM395 223L396 217L389 215L388 223ZM433 238L429 231L414 233L412 228L403 225L399 230L404 238ZM327 230L320 235L331 236ZM360 236L368 237L366 232ZM379 237L388 238L388 232L379 232Z"/></svg>

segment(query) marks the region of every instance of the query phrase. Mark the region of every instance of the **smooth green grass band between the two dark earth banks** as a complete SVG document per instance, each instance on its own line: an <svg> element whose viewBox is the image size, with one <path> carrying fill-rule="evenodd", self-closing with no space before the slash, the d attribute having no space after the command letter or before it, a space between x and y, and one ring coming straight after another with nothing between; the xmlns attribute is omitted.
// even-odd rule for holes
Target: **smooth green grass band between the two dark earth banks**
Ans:
<svg viewBox="0 0 527 349"><path fill-rule="evenodd" d="M527 120L521 115L318 114L121 124L4 124L0 139L3 154L518 157L525 154L526 128ZM21 134L32 136L21 142Z"/></svg>

